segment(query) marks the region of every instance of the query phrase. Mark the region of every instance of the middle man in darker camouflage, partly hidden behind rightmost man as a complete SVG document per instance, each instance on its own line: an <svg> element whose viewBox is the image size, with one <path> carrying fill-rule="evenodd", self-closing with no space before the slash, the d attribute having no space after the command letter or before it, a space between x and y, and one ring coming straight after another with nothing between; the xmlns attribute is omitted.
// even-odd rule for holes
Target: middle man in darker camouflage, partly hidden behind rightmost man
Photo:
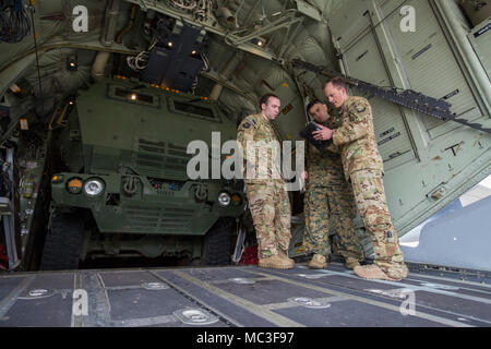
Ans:
<svg viewBox="0 0 491 349"><path fill-rule="evenodd" d="M307 111L318 124L335 129L340 125L327 112L327 106L320 100L309 104ZM330 253L330 228L339 237L339 252L349 269L359 266L363 250L355 233L352 219L356 216L355 198L343 172L339 154L331 148L319 151L312 144L307 148L307 193L304 198L306 231L303 245L314 256L309 263L312 269L325 268Z"/></svg>

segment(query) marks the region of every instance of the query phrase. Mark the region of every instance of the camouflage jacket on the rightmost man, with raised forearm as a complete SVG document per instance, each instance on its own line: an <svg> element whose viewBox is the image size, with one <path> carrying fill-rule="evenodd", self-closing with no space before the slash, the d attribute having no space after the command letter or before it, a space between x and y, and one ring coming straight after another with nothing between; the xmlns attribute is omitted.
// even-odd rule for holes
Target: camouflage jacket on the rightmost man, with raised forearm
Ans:
<svg viewBox="0 0 491 349"><path fill-rule="evenodd" d="M363 169L383 171L369 101L363 97L349 97L342 107L340 121L342 127L333 130L333 142L342 147L346 179Z"/></svg>

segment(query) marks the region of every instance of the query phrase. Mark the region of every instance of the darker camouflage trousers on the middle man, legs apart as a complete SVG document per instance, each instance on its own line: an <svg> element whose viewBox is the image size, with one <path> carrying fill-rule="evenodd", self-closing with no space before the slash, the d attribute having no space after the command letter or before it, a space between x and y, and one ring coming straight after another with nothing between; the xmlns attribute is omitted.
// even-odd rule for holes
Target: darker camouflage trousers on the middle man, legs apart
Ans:
<svg viewBox="0 0 491 349"><path fill-rule="evenodd" d="M304 198L306 231L303 246L321 255L330 253L330 232L339 237L339 253L363 260L363 249L355 233L355 198L348 183L309 186Z"/></svg>

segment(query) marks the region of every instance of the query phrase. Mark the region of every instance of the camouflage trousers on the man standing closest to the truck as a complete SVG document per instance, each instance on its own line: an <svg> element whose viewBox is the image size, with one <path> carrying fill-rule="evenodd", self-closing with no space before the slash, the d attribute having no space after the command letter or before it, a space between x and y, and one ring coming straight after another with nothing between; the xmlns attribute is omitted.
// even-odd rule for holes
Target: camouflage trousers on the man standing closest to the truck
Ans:
<svg viewBox="0 0 491 349"><path fill-rule="evenodd" d="M290 244L291 208L283 181L247 184L249 207L258 238L258 254L267 258Z"/></svg>

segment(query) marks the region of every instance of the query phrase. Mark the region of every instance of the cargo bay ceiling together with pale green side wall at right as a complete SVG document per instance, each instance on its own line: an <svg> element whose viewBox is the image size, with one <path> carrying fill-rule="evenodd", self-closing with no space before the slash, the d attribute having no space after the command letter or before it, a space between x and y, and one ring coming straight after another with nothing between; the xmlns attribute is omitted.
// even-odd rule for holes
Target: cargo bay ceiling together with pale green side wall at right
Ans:
<svg viewBox="0 0 491 349"><path fill-rule="evenodd" d="M147 25L168 19L206 33L200 51L204 67L192 87L196 98L218 100L226 116L237 121L256 112L260 96L273 92L285 107L275 122L284 140L299 139L304 105L323 97L320 87L326 80L294 69L294 59L379 86L445 99L455 115L489 128L490 71L483 68L489 60L479 61L476 52L491 45L474 43L477 36L470 36L479 26L464 16L458 2L35 1L36 45L33 31L19 43L0 43L0 96L16 87L32 91L22 103L13 100L12 110L15 115L34 110L46 117L57 101L101 75L134 75L128 61L139 65L153 44ZM74 31L79 5L88 10L86 32ZM415 34L399 29L403 5L417 11ZM31 11L25 13L31 22ZM68 68L73 60L76 70ZM387 201L399 233L490 174L489 134L381 98L370 101L386 170Z"/></svg>

